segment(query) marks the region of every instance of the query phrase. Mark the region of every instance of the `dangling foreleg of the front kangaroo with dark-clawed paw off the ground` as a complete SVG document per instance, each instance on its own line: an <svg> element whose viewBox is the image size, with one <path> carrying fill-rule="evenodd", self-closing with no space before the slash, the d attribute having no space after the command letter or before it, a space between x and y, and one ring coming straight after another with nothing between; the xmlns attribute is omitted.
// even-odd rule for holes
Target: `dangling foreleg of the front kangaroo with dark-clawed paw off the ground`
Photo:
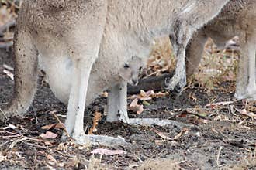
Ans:
<svg viewBox="0 0 256 170"><path fill-rule="evenodd" d="M218 15L224 5L229 0L216 0L206 2L203 0L189 1L181 12L178 13L177 19L173 26L173 35L171 43L177 56L175 76L165 82L168 90L182 92L186 84L185 71L185 49L193 32L202 28L207 22ZM202 15L203 14L203 15Z"/></svg>

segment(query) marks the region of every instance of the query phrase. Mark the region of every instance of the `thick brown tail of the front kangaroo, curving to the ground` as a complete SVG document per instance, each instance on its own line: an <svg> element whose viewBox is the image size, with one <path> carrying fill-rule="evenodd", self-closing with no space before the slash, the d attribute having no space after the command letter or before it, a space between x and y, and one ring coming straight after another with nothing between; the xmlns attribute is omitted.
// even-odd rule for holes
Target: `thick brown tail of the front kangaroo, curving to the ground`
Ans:
<svg viewBox="0 0 256 170"><path fill-rule="evenodd" d="M17 28L14 39L15 86L10 103L0 111L0 120L28 110L36 92L38 54L25 28Z"/></svg>

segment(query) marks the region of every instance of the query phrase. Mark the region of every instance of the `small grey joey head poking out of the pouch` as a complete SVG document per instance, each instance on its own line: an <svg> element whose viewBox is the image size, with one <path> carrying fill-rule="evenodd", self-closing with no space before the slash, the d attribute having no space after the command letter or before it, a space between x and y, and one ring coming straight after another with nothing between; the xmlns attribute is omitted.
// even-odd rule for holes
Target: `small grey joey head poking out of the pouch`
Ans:
<svg viewBox="0 0 256 170"><path fill-rule="evenodd" d="M136 86L139 82L139 75L144 67L143 59L133 56L119 70L119 76L127 83Z"/></svg>

